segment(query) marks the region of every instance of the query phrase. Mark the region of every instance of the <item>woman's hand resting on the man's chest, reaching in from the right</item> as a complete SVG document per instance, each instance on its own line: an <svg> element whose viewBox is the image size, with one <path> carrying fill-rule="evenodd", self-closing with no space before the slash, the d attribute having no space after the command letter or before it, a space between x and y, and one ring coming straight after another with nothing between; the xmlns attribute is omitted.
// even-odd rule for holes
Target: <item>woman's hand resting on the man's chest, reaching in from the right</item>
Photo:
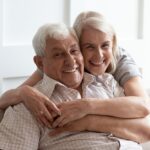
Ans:
<svg viewBox="0 0 150 150"><path fill-rule="evenodd" d="M88 101L76 100L64 102L57 105L61 111L61 115L52 124L53 128L62 127L65 124L80 119L88 114Z"/></svg>

